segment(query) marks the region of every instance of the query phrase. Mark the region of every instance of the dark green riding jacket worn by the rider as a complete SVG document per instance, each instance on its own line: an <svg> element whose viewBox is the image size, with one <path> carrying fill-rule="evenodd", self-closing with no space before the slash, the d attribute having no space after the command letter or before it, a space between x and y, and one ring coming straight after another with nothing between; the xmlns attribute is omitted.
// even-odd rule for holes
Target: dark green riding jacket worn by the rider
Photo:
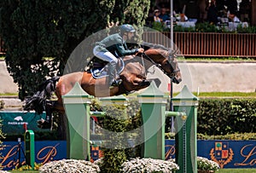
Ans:
<svg viewBox="0 0 256 173"><path fill-rule="evenodd" d="M128 49L123 37L120 33L116 33L105 37L101 42L96 42L98 45L97 51L111 52L113 55L119 56L134 55L137 53L137 49Z"/></svg>

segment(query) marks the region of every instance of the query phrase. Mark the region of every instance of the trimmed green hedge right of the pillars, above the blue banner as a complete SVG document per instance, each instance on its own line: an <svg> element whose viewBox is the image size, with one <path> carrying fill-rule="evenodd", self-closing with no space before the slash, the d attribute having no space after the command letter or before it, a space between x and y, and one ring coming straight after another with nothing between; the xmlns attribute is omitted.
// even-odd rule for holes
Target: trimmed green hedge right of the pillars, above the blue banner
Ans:
<svg viewBox="0 0 256 173"><path fill-rule="evenodd" d="M198 133L217 136L256 132L256 99L204 99L199 101Z"/></svg>

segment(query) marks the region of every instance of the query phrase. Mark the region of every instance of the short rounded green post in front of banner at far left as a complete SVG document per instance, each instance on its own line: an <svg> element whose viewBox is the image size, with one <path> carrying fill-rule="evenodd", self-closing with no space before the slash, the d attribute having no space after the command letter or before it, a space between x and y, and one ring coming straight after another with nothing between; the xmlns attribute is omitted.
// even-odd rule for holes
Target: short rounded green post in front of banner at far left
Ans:
<svg viewBox="0 0 256 173"><path fill-rule="evenodd" d="M26 130L24 135L26 164L35 167L35 136L32 130ZM20 148L21 149L21 148Z"/></svg>

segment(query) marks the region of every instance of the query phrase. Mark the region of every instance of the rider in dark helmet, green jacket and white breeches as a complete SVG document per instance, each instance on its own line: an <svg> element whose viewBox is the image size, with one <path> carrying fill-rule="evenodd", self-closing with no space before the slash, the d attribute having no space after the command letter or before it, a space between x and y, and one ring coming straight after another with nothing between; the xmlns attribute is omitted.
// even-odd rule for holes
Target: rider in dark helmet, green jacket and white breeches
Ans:
<svg viewBox="0 0 256 173"><path fill-rule="evenodd" d="M109 86L117 86L120 80L115 79L115 69L118 62L117 57L125 55L135 55L143 53L144 49L128 49L125 43L126 40L131 40L134 36L135 29L129 24L120 26L120 32L105 37L101 42L97 42L93 49L93 54L102 61L109 62ZM116 57L117 56L117 57Z"/></svg>

